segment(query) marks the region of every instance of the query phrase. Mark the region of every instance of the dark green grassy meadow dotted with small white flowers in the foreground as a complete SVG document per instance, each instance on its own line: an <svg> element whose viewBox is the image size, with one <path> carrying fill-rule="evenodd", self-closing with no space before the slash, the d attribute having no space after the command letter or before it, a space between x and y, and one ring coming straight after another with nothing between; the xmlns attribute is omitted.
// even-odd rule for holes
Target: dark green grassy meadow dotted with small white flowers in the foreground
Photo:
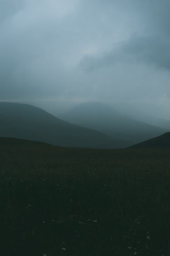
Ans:
<svg viewBox="0 0 170 256"><path fill-rule="evenodd" d="M0 151L3 256L170 255L170 151Z"/></svg>

